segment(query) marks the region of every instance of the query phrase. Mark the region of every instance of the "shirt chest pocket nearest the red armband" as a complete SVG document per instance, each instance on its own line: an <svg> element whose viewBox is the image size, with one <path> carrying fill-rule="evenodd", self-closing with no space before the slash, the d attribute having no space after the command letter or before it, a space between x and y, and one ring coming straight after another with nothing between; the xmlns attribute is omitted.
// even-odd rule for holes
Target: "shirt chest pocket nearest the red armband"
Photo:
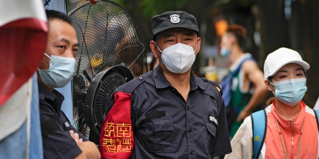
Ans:
<svg viewBox="0 0 319 159"><path fill-rule="evenodd" d="M147 119L144 122L143 139L145 149L153 153L173 152L173 121L172 118Z"/></svg>

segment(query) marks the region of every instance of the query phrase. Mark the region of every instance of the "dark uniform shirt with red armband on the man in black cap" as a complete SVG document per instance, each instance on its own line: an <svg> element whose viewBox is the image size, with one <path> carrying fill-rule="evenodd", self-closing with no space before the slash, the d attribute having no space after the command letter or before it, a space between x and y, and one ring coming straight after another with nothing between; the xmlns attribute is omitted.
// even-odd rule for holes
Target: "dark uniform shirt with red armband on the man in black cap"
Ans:
<svg viewBox="0 0 319 159"><path fill-rule="evenodd" d="M191 74L185 101L158 66L118 87L110 106L102 159L212 159L231 152L223 99L207 79Z"/></svg>

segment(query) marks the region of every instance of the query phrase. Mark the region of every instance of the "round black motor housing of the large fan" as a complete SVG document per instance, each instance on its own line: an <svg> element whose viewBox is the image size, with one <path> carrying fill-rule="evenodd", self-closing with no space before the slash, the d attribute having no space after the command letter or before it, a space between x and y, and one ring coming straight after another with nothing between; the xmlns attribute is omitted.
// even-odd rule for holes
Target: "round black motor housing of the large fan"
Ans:
<svg viewBox="0 0 319 159"><path fill-rule="evenodd" d="M117 65L101 71L89 85L82 104L83 117L96 137L100 137L104 114L110 109L114 89L132 79L134 76L127 67Z"/></svg>

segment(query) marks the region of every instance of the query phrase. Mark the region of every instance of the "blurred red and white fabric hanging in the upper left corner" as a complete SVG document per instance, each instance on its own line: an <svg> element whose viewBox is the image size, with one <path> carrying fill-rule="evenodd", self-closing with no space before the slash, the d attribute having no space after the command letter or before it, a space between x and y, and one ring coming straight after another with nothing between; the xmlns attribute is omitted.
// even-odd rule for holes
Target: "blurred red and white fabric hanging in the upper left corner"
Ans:
<svg viewBox="0 0 319 159"><path fill-rule="evenodd" d="M0 1L0 106L36 71L47 31L42 0Z"/></svg>

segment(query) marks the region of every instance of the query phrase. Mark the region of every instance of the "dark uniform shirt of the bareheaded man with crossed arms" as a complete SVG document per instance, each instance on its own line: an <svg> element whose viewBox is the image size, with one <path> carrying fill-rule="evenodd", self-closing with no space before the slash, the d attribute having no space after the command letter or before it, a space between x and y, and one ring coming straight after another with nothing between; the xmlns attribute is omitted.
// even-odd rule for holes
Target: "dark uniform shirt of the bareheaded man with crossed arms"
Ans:
<svg viewBox="0 0 319 159"><path fill-rule="evenodd" d="M64 97L54 90L51 92L39 83L40 121L45 159L74 159L82 153L70 130L79 134L79 138L88 141L78 132L61 111Z"/></svg>

